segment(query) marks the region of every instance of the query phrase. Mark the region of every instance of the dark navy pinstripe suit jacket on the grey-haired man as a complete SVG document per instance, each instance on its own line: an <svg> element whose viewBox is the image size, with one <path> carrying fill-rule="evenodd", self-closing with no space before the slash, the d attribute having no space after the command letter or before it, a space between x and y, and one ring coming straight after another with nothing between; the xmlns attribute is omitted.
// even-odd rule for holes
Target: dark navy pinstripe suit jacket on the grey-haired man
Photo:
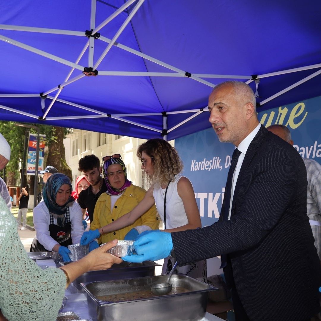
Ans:
<svg viewBox="0 0 321 321"><path fill-rule="evenodd" d="M211 226L172 233L178 264L229 254L226 279L234 278L251 320L308 319L320 311L321 268L306 198L299 153L261 126L240 169L230 221L221 211Z"/></svg>

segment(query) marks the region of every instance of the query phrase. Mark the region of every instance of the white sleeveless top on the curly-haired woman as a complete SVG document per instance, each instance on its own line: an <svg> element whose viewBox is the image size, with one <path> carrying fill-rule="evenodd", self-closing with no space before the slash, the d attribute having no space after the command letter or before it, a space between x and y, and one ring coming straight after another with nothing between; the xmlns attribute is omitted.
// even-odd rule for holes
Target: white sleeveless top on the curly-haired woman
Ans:
<svg viewBox="0 0 321 321"><path fill-rule="evenodd" d="M166 194L166 229L175 229L188 224L182 199L177 192L177 183L183 177L178 174L174 182L170 182ZM153 196L157 211L164 222L164 197L166 188L154 188Z"/></svg>

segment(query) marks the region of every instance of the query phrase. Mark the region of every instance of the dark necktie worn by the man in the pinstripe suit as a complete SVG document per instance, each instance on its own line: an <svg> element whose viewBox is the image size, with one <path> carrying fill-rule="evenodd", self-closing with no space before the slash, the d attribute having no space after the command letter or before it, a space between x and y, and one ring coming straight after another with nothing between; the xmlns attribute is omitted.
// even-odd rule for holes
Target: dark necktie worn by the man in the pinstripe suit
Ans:
<svg viewBox="0 0 321 321"><path fill-rule="evenodd" d="M238 163L238 160L239 160L239 155L241 155L241 152L236 148L232 155L231 166L230 166L229 174L227 175L227 181L225 186L224 201L223 201L223 221L229 220L233 174L236 168L236 164ZM221 268L225 267L226 263L227 263L227 256L226 254L222 254Z"/></svg>

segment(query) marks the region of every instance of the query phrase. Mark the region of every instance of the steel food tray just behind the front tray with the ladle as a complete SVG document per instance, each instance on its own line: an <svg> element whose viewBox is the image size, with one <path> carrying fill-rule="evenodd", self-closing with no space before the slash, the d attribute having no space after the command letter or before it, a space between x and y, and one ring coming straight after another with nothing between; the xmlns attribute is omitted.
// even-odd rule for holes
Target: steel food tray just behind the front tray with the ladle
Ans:
<svg viewBox="0 0 321 321"><path fill-rule="evenodd" d="M65 264L68 264L68 262L61 262L60 266ZM83 273L72 282L72 286L69 286L68 290L72 293L84 292L80 283L154 276L155 266L160 265L154 261L144 261L142 263L128 263L123 261L120 264L113 264L108 270Z"/></svg>

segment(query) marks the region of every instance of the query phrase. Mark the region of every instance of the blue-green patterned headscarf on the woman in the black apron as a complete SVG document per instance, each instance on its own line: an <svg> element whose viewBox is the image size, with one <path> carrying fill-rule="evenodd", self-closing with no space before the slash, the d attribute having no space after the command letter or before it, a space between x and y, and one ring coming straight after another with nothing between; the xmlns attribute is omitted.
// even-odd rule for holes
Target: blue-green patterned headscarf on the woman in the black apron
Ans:
<svg viewBox="0 0 321 321"><path fill-rule="evenodd" d="M70 195L65 205L60 206L56 203L57 192L59 188L65 184L70 186L70 191L73 190L70 179L67 175L56 173L49 176L43 190L43 201L48 207L50 213L57 215L65 214L67 206L70 206L75 201L74 197Z"/></svg>

